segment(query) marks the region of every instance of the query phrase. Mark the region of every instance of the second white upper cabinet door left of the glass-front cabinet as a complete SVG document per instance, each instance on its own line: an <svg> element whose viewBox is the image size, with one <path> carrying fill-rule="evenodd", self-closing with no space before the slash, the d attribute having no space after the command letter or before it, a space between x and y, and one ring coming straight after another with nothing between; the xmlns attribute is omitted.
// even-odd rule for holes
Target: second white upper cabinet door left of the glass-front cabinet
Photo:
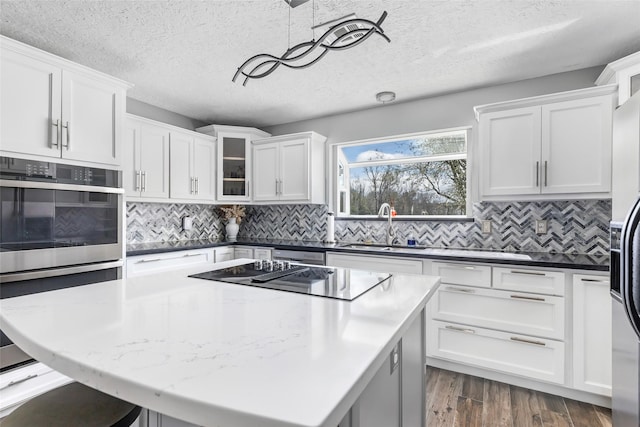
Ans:
<svg viewBox="0 0 640 427"><path fill-rule="evenodd" d="M171 132L169 139L169 193L171 198L195 198L193 137L179 132Z"/></svg>

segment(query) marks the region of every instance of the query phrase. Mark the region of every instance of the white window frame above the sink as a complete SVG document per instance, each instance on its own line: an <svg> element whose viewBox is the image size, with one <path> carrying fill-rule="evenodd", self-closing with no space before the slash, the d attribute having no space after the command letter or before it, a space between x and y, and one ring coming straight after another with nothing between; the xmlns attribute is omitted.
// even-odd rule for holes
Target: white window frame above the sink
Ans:
<svg viewBox="0 0 640 427"><path fill-rule="evenodd" d="M340 167L339 164L339 148L341 147L348 147L348 146L358 146L358 145L368 145L368 144L376 144L376 143L384 143L384 142L393 142L393 141L400 141L400 140L404 140L404 139L415 139L415 138L419 138L419 137L425 137L425 136L429 136L429 135L437 135L437 134L443 134L443 133L450 133L450 132L460 132L460 131L464 131L466 132L466 152L464 154L462 153L455 153L455 154L437 154L437 155L432 155L432 156L421 156L421 157L405 157L405 158L399 158L399 159L381 159L381 160L373 160L373 161L367 161L367 162L356 162L356 163L349 163L345 165L345 169L349 170L351 167L353 167L354 165L359 165L359 167L364 167L364 166L373 166L376 163L378 165L389 165L389 164L402 164L402 163L411 163L412 160L414 159L421 159L421 160L427 160L427 161L433 161L434 159L440 160L440 161L444 161L444 160L457 160L457 159L466 159L467 161L467 176L466 176L466 214L465 215L398 215L395 216L393 219L395 220L400 220L400 221L407 221L407 220L421 220L421 221L428 221L428 220L438 220L438 221L469 221L470 218L472 218L472 212L471 212L471 208L472 208L472 188L471 188L471 175L472 175L472 169L473 169L473 162L470 156L470 153L472 152L471 150L471 137L472 137L472 127L471 126L459 126L459 127L454 127L454 128L446 128L446 129L437 129L437 130L431 130L431 131L424 131L424 132L413 132L413 133L408 133L408 134L401 134L401 135L391 135L391 136L385 136L385 137L377 137L377 138L367 138L367 139L361 139L361 140L355 140L355 141L344 141L344 142L331 142L328 144L327 146L327 150L329 152L329 158L330 158L330 176L329 179L327 180L327 183L329 185L329 210L335 213L335 218L337 220L349 220L349 219L353 219L353 220L379 220L379 217L377 215L352 215L352 214L345 214L340 212L339 209L339 203L340 203L340 193L341 193L341 189L338 188L338 169ZM358 166L356 166L358 167ZM347 178L345 180L346 185L350 185L350 179ZM349 198L347 198L349 199ZM347 202L347 209L350 209L349 203Z"/></svg>

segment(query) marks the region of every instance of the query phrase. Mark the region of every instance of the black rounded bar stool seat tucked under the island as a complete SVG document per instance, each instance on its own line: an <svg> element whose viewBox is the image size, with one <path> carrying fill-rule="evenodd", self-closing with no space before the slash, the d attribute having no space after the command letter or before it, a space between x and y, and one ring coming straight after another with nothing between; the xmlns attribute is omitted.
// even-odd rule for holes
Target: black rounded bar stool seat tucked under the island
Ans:
<svg viewBox="0 0 640 427"><path fill-rule="evenodd" d="M2 427L129 427L141 408L77 382L36 396L0 420Z"/></svg>

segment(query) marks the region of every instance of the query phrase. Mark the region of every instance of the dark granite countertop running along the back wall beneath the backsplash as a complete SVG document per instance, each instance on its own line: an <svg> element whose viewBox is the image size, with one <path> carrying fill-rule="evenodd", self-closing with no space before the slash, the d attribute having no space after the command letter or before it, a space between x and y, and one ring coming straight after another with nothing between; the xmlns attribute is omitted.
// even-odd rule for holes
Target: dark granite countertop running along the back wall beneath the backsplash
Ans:
<svg viewBox="0 0 640 427"><path fill-rule="evenodd" d="M237 242L219 240L186 240L173 242L136 243L127 245L127 255L147 255L177 250L211 248L229 245L270 247L313 252L340 252L366 255L398 256L405 258L435 259L475 263L508 264L547 268L609 271L608 255L548 253L548 252L502 252L482 248L406 248L394 247L391 251L383 246L360 243L323 243L300 240L241 239Z"/></svg>

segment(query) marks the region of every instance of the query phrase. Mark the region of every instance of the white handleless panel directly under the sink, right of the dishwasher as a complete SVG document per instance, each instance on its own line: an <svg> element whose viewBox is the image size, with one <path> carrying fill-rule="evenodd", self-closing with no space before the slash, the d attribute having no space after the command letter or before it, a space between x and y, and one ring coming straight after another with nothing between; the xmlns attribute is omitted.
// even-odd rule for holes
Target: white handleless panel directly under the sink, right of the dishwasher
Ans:
<svg viewBox="0 0 640 427"><path fill-rule="evenodd" d="M400 257L346 255L327 252L327 265L389 273L422 274L422 260Z"/></svg>

